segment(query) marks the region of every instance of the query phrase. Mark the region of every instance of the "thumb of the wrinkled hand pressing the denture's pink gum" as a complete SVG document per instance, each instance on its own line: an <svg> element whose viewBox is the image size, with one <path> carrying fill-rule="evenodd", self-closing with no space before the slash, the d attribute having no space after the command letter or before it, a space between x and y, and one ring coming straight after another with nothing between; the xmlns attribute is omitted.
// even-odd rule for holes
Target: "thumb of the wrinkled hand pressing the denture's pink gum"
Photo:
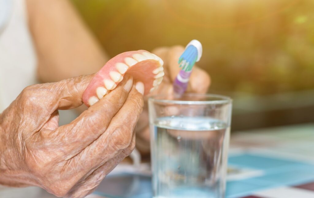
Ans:
<svg viewBox="0 0 314 198"><path fill-rule="evenodd" d="M12 103L16 108L28 109L32 112L33 122L27 123L32 128L42 128L58 109L71 109L83 104L82 94L94 74L78 76L56 83L34 84L23 89L18 98ZM55 117L56 118L56 117ZM56 120L56 119L55 119ZM57 122L55 122L57 123ZM50 125L51 126L51 125ZM58 125L54 125L55 128ZM52 129L54 127L48 127Z"/></svg>

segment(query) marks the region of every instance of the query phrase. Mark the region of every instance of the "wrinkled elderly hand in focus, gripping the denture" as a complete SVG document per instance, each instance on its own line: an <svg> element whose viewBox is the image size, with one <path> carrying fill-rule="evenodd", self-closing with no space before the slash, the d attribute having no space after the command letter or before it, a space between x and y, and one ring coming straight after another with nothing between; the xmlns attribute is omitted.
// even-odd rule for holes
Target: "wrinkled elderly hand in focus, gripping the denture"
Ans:
<svg viewBox="0 0 314 198"><path fill-rule="evenodd" d="M80 106L92 77L29 86L0 114L0 184L84 197L131 153L144 90L132 77L70 124L58 126L58 109Z"/></svg>

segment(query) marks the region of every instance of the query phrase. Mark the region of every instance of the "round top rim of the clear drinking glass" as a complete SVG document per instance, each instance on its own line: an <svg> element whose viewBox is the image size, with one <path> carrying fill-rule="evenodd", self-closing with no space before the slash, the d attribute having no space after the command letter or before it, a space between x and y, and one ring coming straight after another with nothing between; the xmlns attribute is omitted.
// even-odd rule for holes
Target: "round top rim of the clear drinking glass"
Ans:
<svg viewBox="0 0 314 198"><path fill-rule="evenodd" d="M171 94L173 95L173 94ZM170 100L170 99L158 99L158 97L166 97L169 94L157 94L150 96L149 101L160 102L160 103L170 103L170 104L229 104L232 99L229 96L219 95L219 94L198 94L198 93L184 93L183 96L203 96L205 98L217 98L215 100Z"/></svg>

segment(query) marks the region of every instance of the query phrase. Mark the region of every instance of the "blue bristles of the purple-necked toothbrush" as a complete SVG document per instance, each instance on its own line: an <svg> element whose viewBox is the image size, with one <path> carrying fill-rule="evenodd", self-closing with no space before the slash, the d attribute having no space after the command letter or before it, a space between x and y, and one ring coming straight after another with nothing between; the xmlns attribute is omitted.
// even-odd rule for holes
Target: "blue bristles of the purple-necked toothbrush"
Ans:
<svg viewBox="0 0 314 198"><path fill-rule="evenodd" d="M193 45L190 45L185 49L185 51L180 56L178 63L180 64L182 63L182 61L185 60L186 63L188 63L188 65L180 65L180 67L182 67L182 70L188 72L192 70L192 67L195 64L197 57L198 57L197 48L194 47Z"/></svg>

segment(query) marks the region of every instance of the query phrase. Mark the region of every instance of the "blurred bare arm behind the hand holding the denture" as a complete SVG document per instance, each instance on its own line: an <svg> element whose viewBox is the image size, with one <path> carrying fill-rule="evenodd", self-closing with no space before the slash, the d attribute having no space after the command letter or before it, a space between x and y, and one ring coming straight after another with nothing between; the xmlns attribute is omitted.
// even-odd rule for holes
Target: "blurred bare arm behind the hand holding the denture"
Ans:
<svg viewBox="0 0 314 198"><path fill-rule="evenodd" d="M42 82L95 73L108 61L68 1L27 0L27 9Z"/></svg>

